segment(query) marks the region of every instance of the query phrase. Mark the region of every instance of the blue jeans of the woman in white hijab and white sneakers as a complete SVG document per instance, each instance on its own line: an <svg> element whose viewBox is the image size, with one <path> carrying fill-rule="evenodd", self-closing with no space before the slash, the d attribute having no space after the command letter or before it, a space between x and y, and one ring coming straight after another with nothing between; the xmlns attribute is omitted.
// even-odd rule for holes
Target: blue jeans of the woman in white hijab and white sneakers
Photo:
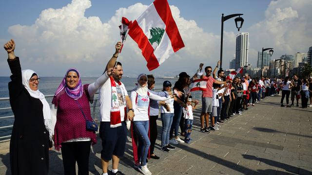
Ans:
<svg viewBox="0 0 312 175"><path fill-rule="evenodd" d="M151 145L150 139L148 138L149 121L135 121L133 122L136 126L135 132L139 136L138 147L137 147L137 157L141 162L141 166L146 165L146 157L148 154L148 149Z"/></svg>

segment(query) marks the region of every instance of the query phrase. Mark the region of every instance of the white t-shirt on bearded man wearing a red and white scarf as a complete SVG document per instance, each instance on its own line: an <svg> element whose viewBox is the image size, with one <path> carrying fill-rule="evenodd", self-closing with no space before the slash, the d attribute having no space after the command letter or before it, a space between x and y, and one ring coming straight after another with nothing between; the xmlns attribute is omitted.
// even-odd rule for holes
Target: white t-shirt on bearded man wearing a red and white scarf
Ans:
<svg viewBox="0 0 312 175"><path fill-rule="evenodd" d="M123 96L128 96L128 92L124 86L123 83L119 86L117 82L116 88L121 90L123 93ZM119 86L119 88L118 88ZM118 95L119 96L119 95ZM99 94L98 94L98 100L99 100L99 117L101 122L110 122L111 121L111 108L112 108L112 87L111 87L111 79L109 78L102 87L99 88ZM120 99L120 100L126 100L126 99ZM124 121L124 105L123 103L119 102L119 109L120 109L120 117L121 122Z"/></svg>

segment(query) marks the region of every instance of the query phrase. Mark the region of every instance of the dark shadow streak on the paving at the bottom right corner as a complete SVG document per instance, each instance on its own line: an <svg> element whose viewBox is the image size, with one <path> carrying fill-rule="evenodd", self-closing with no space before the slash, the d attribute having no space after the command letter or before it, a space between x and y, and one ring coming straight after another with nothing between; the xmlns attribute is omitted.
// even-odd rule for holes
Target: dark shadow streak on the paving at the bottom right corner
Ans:
<svg viewBox="0 0 312 175"><path fill-rule="evenodd" d="M263 163L266 163L268 165L271 165L271 166L274 166L274 167L277 167L277 168L282 168L288 172L291 172L291 173L295 173L295 174L300 174L300 175L311 175L312 172L310 171L307 171L305 169L302 169L302 168L299 168L299 167L294 167L292 165L288 165L288 164L285 164L285 163L281 163L281 162L277 162L277 161L274 161L274 160L270 160L270 159L266 159L266 158L260 158L260 157L255 157L255 156L252 156L252 155L242 155L244 158L246 159L250 159L250 160L258 160L258 161L261 161ZM286 172L283 172L283 174L286 174Z"/></svg>

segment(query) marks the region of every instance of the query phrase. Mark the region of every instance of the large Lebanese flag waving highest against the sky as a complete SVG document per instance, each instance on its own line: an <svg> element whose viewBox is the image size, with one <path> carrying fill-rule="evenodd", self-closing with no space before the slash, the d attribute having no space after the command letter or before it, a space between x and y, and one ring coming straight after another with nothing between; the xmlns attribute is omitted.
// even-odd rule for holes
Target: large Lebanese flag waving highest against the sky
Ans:
<svg viewBox="0 0 312 175"><path fill-rule="evenodd" d="M128 34L141 49L148 70L156 69L184 47L167 0L155 0L132 22Z"/></svg>

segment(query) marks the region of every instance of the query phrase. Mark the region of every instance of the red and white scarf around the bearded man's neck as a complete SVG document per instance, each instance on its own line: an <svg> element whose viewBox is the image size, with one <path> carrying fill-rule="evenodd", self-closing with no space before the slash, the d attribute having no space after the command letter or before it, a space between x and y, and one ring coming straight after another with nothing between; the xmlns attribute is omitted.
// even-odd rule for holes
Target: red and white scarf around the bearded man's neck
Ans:
<svg viewBox="0 0 312 175"><path fill-rule="evenodd" d="M115 127L121 126L122 116L120 116L119 100L118 100L115 80L111 76L109 78L111 80L111 87L112 87L111 128L115 128ZM121 86L122 83L118 81L118 85ZM123 117L124 117L124 120L126 120L127 119L127 107L126 107L126 100L125 100L124 93L122 93L122 98L123 98L123 105L125 106L123 109L125 115Z"/></svg>

